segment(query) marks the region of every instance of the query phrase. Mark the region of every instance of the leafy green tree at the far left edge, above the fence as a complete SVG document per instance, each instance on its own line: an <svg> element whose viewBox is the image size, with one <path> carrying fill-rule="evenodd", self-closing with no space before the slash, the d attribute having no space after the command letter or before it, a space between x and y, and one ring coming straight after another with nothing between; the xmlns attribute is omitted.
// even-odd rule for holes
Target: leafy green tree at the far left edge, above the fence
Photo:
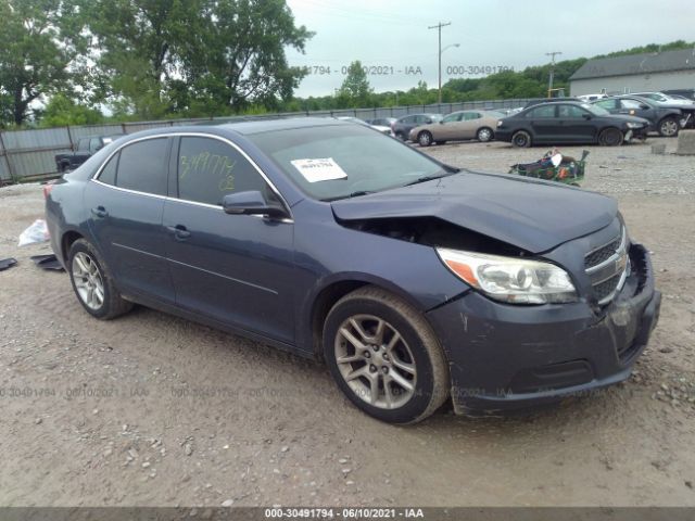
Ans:
<svg viewBox="0 0 695 521"><path fill-rule="evenodd" d="M81 50L79 31L64 23L61 0L0 0L0 117L22 125L31 103L72 85L67 66Z"/></svg>

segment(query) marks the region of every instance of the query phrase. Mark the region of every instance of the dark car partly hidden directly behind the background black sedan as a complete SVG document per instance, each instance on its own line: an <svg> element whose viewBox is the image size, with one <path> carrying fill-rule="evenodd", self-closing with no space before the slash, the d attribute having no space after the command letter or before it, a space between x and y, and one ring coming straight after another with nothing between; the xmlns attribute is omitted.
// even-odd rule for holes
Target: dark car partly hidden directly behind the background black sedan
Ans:
<svg viewBox="0 0 695 521"><path fill-rule="evenodd" d="M648 119L649 130L659 132L659 136L664 137L678 136L678 131L683 125L681 107L662 105L636 96L605 98L594 101L593 104L605 109L611 114L623 114Z"/></svg>

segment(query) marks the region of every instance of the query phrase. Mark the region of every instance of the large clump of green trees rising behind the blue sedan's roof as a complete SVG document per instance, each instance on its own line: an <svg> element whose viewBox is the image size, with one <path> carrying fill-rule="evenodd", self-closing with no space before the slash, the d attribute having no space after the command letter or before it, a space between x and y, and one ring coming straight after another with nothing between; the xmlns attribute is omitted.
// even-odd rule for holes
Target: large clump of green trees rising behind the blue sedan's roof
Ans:
<svg viewBox="0 0 695 521"><path fill-rule="evenodd" d="M74 0L94 35L96 93L116 113L216 115L278 106L304 76L285 49L312 33L285 0Z"/></svg>

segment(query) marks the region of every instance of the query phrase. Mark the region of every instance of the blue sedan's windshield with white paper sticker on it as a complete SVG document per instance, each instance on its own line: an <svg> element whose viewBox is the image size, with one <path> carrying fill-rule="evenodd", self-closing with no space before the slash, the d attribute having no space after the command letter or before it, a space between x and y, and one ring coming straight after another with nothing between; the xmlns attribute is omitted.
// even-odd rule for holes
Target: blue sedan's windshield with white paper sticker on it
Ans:
<svg viewBox="0 0 695 521"><path fill-rule="evenodd" d="M330 125L249 136L305 193L332 201L447 175L438 163L358 125Z"/></svg>

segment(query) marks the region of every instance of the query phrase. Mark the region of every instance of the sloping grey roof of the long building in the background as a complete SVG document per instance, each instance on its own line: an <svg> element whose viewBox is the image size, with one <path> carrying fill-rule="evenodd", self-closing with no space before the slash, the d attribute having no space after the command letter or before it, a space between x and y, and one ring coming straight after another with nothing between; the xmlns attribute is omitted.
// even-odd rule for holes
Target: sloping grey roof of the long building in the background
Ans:
<svg viewBox="0 0 695 521"><path fill-rule="evenodd" d="M695 69L695 49L589 60L569 79L571 81L687 69Z"/></svg>

